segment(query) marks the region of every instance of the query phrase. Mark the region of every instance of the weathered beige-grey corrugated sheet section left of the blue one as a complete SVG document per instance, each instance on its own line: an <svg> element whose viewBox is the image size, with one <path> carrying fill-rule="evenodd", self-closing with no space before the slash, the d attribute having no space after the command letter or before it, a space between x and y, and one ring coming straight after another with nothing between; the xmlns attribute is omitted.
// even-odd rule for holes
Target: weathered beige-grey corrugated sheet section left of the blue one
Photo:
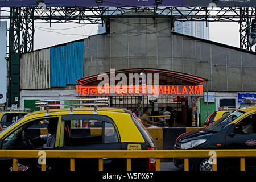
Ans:
<svg viewBox="0 0 256 182"><path fill-rule="evenodd" d="M20 89L48 89L50 84L50 50L23 54L20 59Z"/></svg>

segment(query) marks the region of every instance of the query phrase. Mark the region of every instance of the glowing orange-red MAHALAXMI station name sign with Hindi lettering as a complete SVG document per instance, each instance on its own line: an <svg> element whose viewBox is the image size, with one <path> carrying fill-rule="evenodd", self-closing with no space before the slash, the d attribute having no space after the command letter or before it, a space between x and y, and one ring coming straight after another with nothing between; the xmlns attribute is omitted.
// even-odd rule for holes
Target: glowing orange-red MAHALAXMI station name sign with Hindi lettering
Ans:
<svg viewBox="0 0 256 182"><path fill-rule="evenodd" d="M203 85L76 86L80 96L203 96Z"/></svg>

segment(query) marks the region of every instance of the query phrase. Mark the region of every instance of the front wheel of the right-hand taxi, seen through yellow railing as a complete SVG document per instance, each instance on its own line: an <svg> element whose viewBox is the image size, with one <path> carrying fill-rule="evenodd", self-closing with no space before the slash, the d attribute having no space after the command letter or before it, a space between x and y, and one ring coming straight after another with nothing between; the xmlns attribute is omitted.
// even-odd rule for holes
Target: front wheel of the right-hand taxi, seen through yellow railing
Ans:
<svg viewBox="0 0 256 182"><path fill-rule="evenodd" d="M193 165L194 171L212 171L213 166L212 162L209 160L209 158L205 159L196 159L194 165ZM223 164L221 160L217 159L217 171L223 171Z"/></svg>

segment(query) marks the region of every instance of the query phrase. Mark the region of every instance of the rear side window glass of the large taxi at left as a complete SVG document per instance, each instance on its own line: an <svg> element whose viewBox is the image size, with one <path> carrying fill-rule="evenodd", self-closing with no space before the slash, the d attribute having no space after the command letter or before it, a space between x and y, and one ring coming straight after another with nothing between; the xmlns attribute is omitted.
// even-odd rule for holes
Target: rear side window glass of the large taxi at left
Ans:
<svg viewBox="0 0 256 182"><path fill-rule="evenodd" d="M63 117L65 121L64 146L85 146L119 142L117 130L104 116Z"/></svg>

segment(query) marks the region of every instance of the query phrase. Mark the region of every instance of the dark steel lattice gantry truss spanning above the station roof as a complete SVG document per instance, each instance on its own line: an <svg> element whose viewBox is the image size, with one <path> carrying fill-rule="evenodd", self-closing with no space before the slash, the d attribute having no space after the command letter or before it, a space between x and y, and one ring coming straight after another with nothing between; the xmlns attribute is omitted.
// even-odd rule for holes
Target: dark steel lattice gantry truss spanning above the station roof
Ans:
<svg viewBox="0 0 256 182"><path fill-rule="evenodd" d="M128 14L129 11L147 11L145 14ZM19 7L11 8L9 54L33 50L34 23L104 24L109 18L172 18L174 21L238 22L240 23L240 47L255 48L250 39L251 20L256 9L247 7ZM255 50L254 50L255 51Z"/></svg>

